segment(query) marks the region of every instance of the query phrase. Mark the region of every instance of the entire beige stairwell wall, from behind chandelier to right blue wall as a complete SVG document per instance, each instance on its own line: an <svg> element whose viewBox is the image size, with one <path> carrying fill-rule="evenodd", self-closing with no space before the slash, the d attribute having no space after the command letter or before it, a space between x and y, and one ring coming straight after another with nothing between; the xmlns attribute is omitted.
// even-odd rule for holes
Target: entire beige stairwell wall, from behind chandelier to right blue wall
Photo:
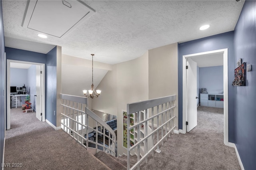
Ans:
<svg viewBox="0 0 256 170"><path fill-rule="evenodd" d="M84 86L81 84L90 83L90 79L83 80L83 67L91 67L90 61L62 55L62 93L82 95L80 91ZM123 63L98 63L96 68L108 72L96 87L102 90L100 97L90 100L91 109L117 115L118 154L127 152L122 147L120 137L123 135L122 110L126 110L127 103L176 95L175 104L178 106L178 43L150 49L141 57ZM74 74L80 74L80 77L73 80L76 83L70 82L70 72L73 71ZM85 82L81 83L82 81ZM174 114L177 116L175 123L178 127L178 108L174 110Z"/></svg>

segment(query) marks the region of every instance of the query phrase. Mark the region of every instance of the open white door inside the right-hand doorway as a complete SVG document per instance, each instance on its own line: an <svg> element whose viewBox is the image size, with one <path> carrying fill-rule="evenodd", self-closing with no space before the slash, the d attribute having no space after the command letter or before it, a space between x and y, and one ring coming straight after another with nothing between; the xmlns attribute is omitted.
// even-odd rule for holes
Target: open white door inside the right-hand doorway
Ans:
<svg viewBox="0 0 256 170"><path fill-rule="evenodd" d="M191 58L187 58L186 69L186 96L187 96L187 111L186 111L186 122L187 132L192 130L197 125L197 105L196 105L196 87L197 87L197 63Z"/></svg>

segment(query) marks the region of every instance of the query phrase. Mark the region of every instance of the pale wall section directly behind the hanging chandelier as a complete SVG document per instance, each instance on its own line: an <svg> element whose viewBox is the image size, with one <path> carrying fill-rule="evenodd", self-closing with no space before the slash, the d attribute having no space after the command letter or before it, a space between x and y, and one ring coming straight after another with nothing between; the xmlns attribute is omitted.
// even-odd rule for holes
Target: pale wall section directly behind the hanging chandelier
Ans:
<svg viewBox="0 0 256 170"><path fill-rule="evenodd" d="M94 59L95 57L96 55L94 55ZM61 62L61 93L84 96L82 90L89 90L92 84L92 60L62 54ZM106 73L109 70L112 70L112 67L111 64L93 61L94 89L101 88L97 87L98 84L104 78ZM102 91L102 93L106 93L106 91ZM92 109L91 105L92 100L89 98L89 109Z"/></svg>

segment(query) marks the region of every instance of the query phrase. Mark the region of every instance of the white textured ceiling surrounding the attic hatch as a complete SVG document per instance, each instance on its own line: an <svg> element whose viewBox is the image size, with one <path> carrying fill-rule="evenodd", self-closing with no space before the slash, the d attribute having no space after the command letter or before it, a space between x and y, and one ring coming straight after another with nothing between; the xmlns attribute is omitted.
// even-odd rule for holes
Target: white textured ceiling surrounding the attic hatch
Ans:
<svg viewBox="0 0 256 170"><path fill-rule="evenodd" d="M232 31L244 4L236 0L83 1L96 13L65 38L41 39L38 32L22 27L27 2L2 1L6 46L21 45L9 43L10 39L59 45L66 55L91 59L95 53L95 61L110 64L135 59L155 47ZM204 24L210 28L200 31Z"/></svg>

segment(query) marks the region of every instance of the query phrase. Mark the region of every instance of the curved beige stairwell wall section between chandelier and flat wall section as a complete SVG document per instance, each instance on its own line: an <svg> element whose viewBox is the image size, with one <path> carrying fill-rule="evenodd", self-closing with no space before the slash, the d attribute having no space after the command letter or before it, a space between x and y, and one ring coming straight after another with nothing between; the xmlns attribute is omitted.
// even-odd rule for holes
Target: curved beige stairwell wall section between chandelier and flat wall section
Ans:
<svg viewBox="0 0 256 170"><path fill-rule="evenodd" d="M92 109L117 115L118 154L126 153L122 147L122 110L127 103L148 99L148 52L141 57L118 63L108 71L98 88L102 95L93 99Z"/></svg>

